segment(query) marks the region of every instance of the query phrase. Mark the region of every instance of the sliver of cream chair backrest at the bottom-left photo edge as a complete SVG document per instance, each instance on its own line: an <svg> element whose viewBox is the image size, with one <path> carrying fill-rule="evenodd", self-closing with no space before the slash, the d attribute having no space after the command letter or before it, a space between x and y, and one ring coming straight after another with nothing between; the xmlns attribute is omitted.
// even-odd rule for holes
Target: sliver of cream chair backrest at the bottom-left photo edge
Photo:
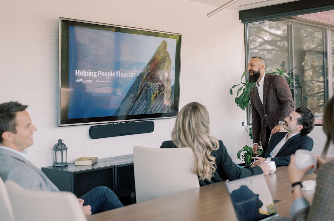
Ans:
<svg viewBox="0 0 334 221"><path fill-rule="evenodd" d="M0 220L14 221L12 206L9 201L7 188L0 177Z"/></svg>

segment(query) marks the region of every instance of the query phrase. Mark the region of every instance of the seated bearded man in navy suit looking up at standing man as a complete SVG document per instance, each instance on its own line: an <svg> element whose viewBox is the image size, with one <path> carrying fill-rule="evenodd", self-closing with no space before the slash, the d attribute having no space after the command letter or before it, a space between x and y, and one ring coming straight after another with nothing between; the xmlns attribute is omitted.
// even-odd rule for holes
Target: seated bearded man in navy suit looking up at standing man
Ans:
<svg viewBox="0 0 334 221"><path fill-rule="evenodd" d="M284 129L288 132L275 133L271 137L266 151L259 157L252 157L257 160L251 164L251 167L262 164L269 158L275 161L276 167L288 166L290 155L294 154L296 150L312 150L313 140L307 135L313 128L313 113L307 107L298 107L285 119Z"/></svg>

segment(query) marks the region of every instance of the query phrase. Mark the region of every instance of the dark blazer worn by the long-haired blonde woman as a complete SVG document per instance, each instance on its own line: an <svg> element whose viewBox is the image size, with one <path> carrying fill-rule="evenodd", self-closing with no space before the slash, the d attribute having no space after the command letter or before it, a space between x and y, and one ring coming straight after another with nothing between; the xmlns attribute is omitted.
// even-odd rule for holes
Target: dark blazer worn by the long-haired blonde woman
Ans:
<svg viewBox="0 0 334 221"><path fill-rule="evenodd" d="M177 148L172 141L165 141L160 148ZM211 152L211 156L216 158L217 169L214 172L211 180L199 180L200 186L216 183L223 180L236 180L243 177L249 177L263 173L260 167L254 168L240 168L233 163L231 157L228 155L226 147L222 141L219 141L219 149Z"/></svg>

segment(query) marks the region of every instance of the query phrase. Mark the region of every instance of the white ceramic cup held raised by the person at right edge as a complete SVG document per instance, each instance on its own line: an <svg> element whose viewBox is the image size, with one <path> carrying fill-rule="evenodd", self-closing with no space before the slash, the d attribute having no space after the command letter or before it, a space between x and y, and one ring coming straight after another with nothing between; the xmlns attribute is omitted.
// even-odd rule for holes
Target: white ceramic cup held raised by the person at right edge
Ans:
<svg viewBox="0 0 334 221"><path fill-rule="evenodd" d="M313 173L317 169L317 158L308 150L296 150L295 163L299 169L313 165L314 168L308 170L307 174Z"/></svg>

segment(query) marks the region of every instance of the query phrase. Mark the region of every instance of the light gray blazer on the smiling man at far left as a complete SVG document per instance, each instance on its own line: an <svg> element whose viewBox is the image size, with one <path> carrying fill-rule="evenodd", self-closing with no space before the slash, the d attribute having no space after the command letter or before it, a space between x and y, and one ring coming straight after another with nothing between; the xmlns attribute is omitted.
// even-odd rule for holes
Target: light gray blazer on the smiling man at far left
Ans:
<svg viewBox="0 0 334 221"><path fill-rule="evenodd" d="M0 177L29 190L59 191L46 175L20 155L0 148Z"/></svg>

